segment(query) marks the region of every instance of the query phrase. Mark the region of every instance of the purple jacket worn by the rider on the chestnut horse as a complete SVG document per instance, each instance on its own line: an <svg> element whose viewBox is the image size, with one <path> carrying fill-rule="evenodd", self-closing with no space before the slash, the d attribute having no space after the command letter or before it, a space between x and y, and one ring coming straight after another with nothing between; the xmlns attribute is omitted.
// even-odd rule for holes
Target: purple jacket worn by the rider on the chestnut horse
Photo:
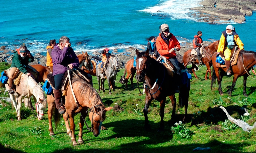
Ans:
<svg viewBox="0 0 256 153"><path fill-rule="evenodd" d="M71 47L64 47L63 50L58 46L59 43L52 49L52 63L53 63L53 74L63 74L68 68L68 64L73 64L74 68L78 68L79 61L74 50Z"/></svg>

